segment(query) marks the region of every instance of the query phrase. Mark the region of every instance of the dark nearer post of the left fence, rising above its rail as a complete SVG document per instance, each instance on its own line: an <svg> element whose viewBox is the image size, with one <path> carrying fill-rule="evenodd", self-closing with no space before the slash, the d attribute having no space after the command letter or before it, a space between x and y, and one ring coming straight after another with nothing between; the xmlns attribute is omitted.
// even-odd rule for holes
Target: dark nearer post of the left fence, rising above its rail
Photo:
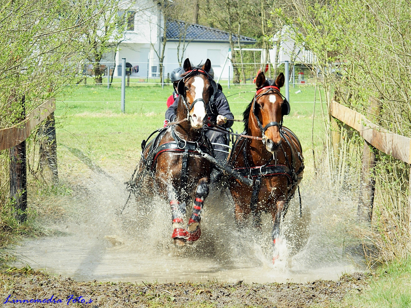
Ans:
<svg viewBox="0 0 411 308"><path fill-rule="evenodd" d="M22 113L19 121L25 118L25 97L21 99ZM18 145L10 148L10 198L14 200L14 208L23 213L15 217L24 222L27 219L27 169L26 169L26 144L23 140Z"/></svg>

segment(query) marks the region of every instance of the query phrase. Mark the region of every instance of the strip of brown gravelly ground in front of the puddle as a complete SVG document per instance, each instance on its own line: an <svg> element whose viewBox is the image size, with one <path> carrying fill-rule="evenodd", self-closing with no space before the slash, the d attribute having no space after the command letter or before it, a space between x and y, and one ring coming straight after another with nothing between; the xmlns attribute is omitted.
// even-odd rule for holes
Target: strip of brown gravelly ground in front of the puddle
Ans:
<svg viewBox="0 0 411 308"><path fill-rule="evenodd" d="M67 307L68 305L90 308L306 308L315 303L326 307L332 300L342 300L350 290L361 292L364 287L367 287L367 278L369 278L367 274L355 273L343 275L338 281L316 280L307 284L253 283L248 285L239 281L236 284L143 283L136 285L121 282L77 282L71 278L49 276L40 272L8 271L0 274L0 297L3 307ZM47 299L52 295L52 300L47 303ZM67 303L69 297L72 299ZM80 303L76 301L77 297L81 297ZM7 298L8 302L5 303ZM18 300L18 303L13 303L13 300ZM28 302L23 303L23 300Z"/></svg>

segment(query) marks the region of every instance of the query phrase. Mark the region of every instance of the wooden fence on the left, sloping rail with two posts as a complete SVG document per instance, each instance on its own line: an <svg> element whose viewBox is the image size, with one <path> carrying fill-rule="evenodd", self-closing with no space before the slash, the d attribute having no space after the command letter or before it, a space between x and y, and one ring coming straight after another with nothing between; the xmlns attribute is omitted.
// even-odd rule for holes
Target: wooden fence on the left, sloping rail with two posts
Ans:
<svg viewBox="0 0 411 308"><path fill-rule="evenodd" d="M25 109L24 96L21 98L23 111ZM0 150L10 149L10 198L16 209L15 217L23 222L26 220L27 208L27 163L25 140L30 136L32 129L45 121L39 133L44 137L40 145L40 162L45 161L53 173L53 181L58 180L57 148L55 139L54 121L55 100L49 99L32 110L20 123L0 129ZM24 113L22 113L22 118ZM44 165L44 163L43 163Z"/></svg>

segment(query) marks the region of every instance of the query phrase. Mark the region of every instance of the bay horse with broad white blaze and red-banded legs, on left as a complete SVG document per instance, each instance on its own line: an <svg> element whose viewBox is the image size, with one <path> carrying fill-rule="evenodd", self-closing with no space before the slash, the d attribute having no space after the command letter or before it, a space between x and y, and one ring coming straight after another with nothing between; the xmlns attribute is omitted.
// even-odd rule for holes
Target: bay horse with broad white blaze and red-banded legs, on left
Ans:
<svg viewBox="0 0 411 308"><path fill-rule="evenodd" d="M176 89L180 95L175 120L147 145L143 140L139 164L140 175L151 175L145 185L157 190L171 206L171 238L177 246L192 243L201 235L201 209L209 191L211 166L196 149L213 153L210 141L204 136L203 124L210 97L217 91L216 83L208 75L209 59L199 68L192 67L187 58L183 68L185 73ZM190 202L194 203L193 211L185 226L183 216Z"/></svg>

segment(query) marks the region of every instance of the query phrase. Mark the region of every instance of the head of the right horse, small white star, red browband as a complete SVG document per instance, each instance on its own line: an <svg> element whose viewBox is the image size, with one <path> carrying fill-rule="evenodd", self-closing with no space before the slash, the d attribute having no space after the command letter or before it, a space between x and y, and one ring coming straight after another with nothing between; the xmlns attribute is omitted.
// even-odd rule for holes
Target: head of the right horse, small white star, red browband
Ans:
<svg viewBox="0 0 411 308"><path fill-rule="evenodd" d="M283 73L280 73L275 81L266 79L263 72L256 79L257 91L252 111L265 138L266 149L272 154L281 145L280 129L283 116L290 112L288 101L280 94L284 81Z"/></svg>

